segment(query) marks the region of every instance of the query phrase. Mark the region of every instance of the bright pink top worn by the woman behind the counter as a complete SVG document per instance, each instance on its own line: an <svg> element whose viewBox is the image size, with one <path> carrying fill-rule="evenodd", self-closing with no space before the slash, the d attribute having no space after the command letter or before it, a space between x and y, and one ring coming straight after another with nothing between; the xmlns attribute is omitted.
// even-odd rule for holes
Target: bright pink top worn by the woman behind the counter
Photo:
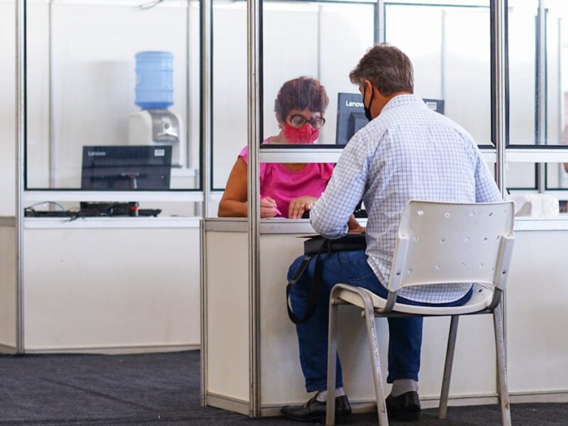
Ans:
<svg viewBox="0 0 568 426"><path fill-rule="evenodd" d="M266 141L268 139L264 143ZM249 164L249 147L245 146L239 156ZM261 195L273 198L282 217L288 217L288 207L293 198L302 195L320 198L332 177L333 168L334 163L307 163L305 168L295 172L280 163L261 163Z"/></svg>

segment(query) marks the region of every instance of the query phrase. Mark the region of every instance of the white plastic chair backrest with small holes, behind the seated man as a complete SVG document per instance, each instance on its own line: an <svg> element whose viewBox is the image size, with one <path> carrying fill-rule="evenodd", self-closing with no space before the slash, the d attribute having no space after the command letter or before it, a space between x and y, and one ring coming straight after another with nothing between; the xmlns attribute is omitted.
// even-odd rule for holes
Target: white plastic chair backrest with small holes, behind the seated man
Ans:
<svg viewBox="0 0 568 426"><path fill-rule="evenodd" d="M439 283L505 288L513 222L513 202L410 200L400 219L388 289Z"/></svg>

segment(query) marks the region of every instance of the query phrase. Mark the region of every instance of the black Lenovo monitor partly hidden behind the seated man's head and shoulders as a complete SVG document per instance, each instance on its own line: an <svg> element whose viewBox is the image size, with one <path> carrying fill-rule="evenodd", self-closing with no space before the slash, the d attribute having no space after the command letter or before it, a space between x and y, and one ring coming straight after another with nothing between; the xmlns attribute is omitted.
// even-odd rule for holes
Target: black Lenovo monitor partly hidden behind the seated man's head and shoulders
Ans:
<svg viewBox="0 0 568 426"><path fill-rule="evenodd" d="M424 99L427 107L444 114L443 99ZM335 143L345 145L359 129L368 123L365 117L363 97L360 93L337 94L337 129Z"/></svg>

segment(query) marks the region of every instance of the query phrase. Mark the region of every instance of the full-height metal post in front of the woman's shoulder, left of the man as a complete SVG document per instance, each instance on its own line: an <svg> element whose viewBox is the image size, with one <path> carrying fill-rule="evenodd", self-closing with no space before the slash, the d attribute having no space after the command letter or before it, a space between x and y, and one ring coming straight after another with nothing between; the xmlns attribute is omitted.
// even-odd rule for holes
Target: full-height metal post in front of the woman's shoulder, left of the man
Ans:
<svg viewBox="0 0 568 426"><path fill-rule="evenodd" d="M247 197L249 200L249 381L250 415L257 417L260 408L260 268L259 250L260 202L258 200L258 154L261 138L261 1L248 0L247 9L247 59L248 59L248 124L249 168Z"/></svg>

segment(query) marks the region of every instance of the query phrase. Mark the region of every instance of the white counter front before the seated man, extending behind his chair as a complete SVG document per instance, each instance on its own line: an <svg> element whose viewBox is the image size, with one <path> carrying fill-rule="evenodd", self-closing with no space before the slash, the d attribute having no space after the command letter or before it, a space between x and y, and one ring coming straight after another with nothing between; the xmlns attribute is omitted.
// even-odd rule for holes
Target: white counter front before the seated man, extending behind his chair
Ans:
<svg viewBox="0 0 568 426"><path fill-rule="evenodd" d="M568 339L564 339L564 324L568 324L568 262L564 255L568 221L562 217L517 222L506 295L510 393L513 402L568 401ZM281 405L305 402L309 396L300 371L295 327L285 308L285 277L290 263L302 254L302 240L297 236L313 233L310 224L307 219L261 221L260 349L256 361L251 358L246 219L205 219L203 229L205 403L245 414L258 404L261 415L274 415ZM551 294L535 295L535 285ZM340 311L346 317L339 334L346 393L352 403L368 407L374 395L364 322L356 308ZM450 390L454 404L496 403L491 322L488 315L460 320ZM437 405L448 327L447 318L425 320L420 373L424 407ZM386 320L378 320L378 334L384 367ZM257 395L251 392L255 384Z"/></svg>

